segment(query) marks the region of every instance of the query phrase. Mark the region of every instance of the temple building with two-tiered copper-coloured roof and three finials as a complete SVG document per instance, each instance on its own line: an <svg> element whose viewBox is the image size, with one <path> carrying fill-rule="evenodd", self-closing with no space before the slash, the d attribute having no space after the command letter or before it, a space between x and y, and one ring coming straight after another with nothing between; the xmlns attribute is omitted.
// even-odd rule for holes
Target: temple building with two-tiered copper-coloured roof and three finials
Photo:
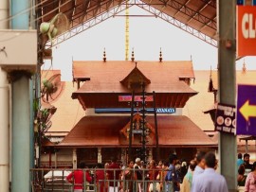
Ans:
<svg viewBox="0 0 256 192"><path fill-rule="evenodd" d="M146 161L165 161L173 152L190 161L199 149L215 150L217 143L182 114L198 94L191 88L194 80L192 61L73 61L74 91L62 101L73 113L57 118L62 109L58 101L53 103L57 112L49 130L51 137L68 133L59 143L45 145L54 150L46 151L42 165L76 167L84 161L94 166L113 155L124 164L141 155ZM74 101L81 106L73 108L84 110L77 113L76 123L69 104ZM56 128L58 121L62 126Z"/></svg>

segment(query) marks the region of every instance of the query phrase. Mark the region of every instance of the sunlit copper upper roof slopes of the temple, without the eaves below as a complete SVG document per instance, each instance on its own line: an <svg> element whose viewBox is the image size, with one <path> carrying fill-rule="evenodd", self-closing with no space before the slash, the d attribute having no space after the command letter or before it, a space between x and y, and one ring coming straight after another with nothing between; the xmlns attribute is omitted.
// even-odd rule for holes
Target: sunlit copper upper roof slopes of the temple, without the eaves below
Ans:
<svg viewBox="0 0 256 192"><path fill-rule="evenodd" d="M73 77L90 78L85 81L79 93L127 93L120 81L135 68L134 61L73 61ZM178 78L194 78L192 61L137 61L137 69L151 80L147 92L196 93Z"/></svg>

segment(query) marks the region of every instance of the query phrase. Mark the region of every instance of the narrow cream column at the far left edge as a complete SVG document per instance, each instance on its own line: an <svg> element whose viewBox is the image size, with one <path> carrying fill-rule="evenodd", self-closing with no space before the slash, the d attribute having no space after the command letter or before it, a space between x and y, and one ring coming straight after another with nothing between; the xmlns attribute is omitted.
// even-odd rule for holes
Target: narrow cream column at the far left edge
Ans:
<svg viewBox="0 0 256 192"><path fill-rule="evenodd" d="M9 17L8 2L9 0L0 1L0 20ZM8 21L0 22L0 29L8 27ZM0 115L0 191L9 191L9 82L7 73L1 67L0 112L2 112Z"/></svg>

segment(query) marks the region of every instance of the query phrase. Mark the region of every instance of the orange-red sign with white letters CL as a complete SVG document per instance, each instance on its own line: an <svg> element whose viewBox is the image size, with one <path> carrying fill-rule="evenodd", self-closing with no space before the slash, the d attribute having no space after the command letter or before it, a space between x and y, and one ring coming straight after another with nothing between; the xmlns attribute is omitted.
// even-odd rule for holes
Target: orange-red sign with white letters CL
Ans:
<svg viewBox="0 0 256 192"><path fill-rule="evenodd" d="M256 56L256 6L236 6L237 57Z"/></svg>

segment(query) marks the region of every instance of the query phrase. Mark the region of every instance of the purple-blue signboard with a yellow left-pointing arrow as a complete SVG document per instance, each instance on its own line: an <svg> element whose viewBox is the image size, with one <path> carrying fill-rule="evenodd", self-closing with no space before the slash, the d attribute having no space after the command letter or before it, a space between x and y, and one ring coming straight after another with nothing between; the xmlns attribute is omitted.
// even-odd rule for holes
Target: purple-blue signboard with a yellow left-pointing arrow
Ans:
<svg viewBox="0 0 256 192"><path fill-rule="evenodd" d="M256 135L256 85L238 85L236 134Z"/></svg>

